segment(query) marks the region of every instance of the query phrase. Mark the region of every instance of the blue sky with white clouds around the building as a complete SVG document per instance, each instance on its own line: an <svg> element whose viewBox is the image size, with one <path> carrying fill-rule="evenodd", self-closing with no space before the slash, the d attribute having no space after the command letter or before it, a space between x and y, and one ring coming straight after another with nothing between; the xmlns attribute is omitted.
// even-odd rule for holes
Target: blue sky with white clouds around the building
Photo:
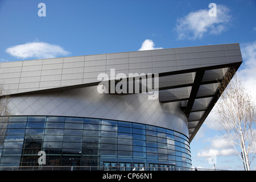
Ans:
<svg viewBox="0 0 256 182"><path fill-rule="evenodd" d="M39 3L46 16L39 16ZM216 3L217 16L208 15ZM240 43L239 73L256 94L256 1L0 0L0 62L155 48ZM192 166L242 170L223 142L214 112L191 142ZM256 170L255 160L251 169Z"/></svg>

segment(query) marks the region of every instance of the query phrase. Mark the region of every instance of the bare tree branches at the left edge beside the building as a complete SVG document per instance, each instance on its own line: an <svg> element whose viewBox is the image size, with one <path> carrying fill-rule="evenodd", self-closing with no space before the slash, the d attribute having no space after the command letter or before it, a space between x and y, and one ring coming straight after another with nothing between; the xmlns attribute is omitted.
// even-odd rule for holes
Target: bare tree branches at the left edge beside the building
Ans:
<svg viewBox="0 0 256 182"><path fill-rule="evenodd" d="M5 138L6 130L9 125L11 117L11 110L9 108L9 94L7 90L0 84L0 146Z"/></svg>

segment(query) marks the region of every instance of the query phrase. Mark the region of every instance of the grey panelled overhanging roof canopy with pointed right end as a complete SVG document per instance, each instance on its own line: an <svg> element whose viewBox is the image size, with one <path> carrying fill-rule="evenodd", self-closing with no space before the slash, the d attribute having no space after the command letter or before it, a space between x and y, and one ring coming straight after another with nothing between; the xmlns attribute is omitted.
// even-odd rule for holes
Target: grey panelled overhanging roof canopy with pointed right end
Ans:
<svg viewBox="0 0 256 182"><path fill-rule="evenodd" d="M0 63L0 83L15 96L96 86L110 69L158 73L159 102L181 102L191 141L217 102L225 73L241 63L238 43L107 53Z"/></svg>

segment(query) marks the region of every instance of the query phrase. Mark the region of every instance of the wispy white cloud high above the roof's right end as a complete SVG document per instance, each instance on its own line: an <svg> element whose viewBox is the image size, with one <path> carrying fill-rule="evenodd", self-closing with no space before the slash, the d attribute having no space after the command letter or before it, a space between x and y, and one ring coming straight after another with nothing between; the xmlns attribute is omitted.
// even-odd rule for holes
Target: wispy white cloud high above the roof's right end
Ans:
<svg viewBox="0 0 256 182"><path fill-rule="evenodd" d="M226 23L230 22L231 16L228 7L217 5L217 16L209 16L209 9L198 10L189 13L183 18L178 18L175 30L178 39L200 39L209 34L220 34L226 28Z"/></svg>

